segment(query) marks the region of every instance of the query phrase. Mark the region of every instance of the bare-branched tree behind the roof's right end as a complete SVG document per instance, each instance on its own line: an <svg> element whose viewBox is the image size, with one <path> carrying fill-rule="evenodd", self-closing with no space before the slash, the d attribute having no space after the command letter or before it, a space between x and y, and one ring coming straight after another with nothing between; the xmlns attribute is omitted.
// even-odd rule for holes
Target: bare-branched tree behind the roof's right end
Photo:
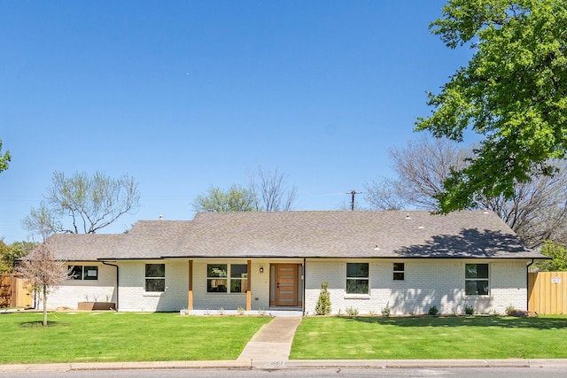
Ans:
<svg viewBox="0 0 567 378"><path fill-rule="evenodd" d="M451 170L466 166L471 154L471 150L459 149L457 143L447 139L425 137L405 148L392 149L390 157L398 177L367 185L366 200L380 210L439 211L434 197L442 192ZM478 197L475 207L496 212L532 248L545 240L567 242L567 162L550 164L558 167L554 176L539 175L517 183L509 199Z"/></svg>

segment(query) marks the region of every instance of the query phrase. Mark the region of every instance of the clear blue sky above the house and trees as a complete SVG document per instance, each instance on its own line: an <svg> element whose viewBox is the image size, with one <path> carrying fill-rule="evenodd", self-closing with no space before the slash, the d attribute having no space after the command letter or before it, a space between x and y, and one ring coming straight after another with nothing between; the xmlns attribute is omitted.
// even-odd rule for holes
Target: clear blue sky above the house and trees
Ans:
<svg viewBox="0 0 567 378"><path fill-rule="evenodd" d="M141 207L109 233L190 220L258 165L297 210L348 204L470 58L429 33L443 4L0 0L0 237L27 240L54 171L136 178Z"/></svg>

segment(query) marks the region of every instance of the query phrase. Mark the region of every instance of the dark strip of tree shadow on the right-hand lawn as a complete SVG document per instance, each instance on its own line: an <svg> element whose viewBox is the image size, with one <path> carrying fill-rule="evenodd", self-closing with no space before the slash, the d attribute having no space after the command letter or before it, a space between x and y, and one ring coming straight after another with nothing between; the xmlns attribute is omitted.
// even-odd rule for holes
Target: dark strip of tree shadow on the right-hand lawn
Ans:
<svg viewBox="0 0 567 378"><path fill-rule="evenodd" d="M377 325L396 327L499 327L499 328L567 328L567 319L560 318L513 318L500 316L455 316L455 317L344 317L346 321L361 321Z"/></svg>

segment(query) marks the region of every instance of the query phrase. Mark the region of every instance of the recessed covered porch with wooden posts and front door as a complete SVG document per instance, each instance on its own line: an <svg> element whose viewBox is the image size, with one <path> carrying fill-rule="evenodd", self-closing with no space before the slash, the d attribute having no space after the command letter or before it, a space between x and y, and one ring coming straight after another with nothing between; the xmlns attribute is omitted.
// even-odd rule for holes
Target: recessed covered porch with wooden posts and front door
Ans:
<svg viewBox="0 0 567 378"><path fill-rule="evenodd" d="M190 258L183 312L301 316L304 266L302 258Z"/></svg>

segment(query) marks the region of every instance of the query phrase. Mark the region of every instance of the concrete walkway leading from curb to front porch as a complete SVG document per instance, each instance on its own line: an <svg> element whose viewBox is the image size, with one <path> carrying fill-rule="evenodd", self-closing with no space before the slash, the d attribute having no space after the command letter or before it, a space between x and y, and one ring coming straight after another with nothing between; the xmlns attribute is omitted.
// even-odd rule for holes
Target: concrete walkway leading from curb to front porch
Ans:
<svg viewBox="0 0 567 378"><path fill-rule="evenodd" d="M278 365L290 359L291 343L295 330L301 323L300 317L276 317L264 324L240 353L237 361L262 365L262 362Z"/></svg>

